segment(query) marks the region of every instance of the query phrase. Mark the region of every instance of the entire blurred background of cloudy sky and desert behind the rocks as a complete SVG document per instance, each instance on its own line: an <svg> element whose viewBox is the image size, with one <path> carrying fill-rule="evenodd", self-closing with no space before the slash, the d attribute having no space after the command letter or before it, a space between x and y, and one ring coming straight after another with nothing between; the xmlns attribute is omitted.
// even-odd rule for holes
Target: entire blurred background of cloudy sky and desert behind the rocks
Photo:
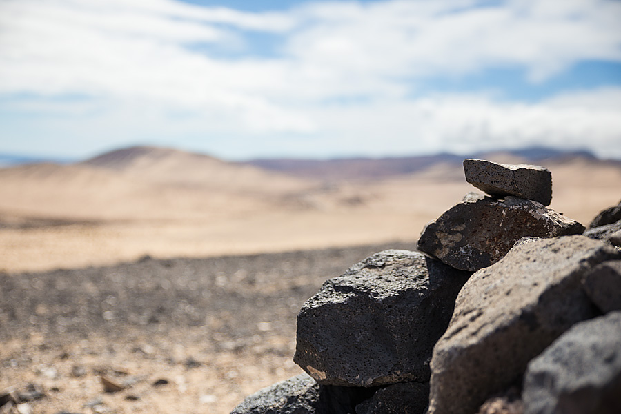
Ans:
<svg viewBox="0 0 621 414"><path fill-rule="evenodd" d="M0 0L0 391L228 413L299 372L324 280L474 190L466 157L549 168L551 208L588 225L621 199L619 21L614 0Z"/></svg>

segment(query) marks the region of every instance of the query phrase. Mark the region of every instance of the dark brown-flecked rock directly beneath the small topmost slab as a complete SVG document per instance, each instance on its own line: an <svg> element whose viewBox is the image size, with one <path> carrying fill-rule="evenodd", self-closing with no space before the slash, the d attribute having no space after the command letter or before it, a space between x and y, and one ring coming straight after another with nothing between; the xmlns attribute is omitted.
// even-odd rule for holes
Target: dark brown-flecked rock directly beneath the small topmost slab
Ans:
<svg viewBox="0 0 621 414"><path fill-rule="evenodd" d="M427 224L418 249L461 270L479 270L500 260L518 239L580 234L584 226L537 201L504 201L468 195Z"/></svg>

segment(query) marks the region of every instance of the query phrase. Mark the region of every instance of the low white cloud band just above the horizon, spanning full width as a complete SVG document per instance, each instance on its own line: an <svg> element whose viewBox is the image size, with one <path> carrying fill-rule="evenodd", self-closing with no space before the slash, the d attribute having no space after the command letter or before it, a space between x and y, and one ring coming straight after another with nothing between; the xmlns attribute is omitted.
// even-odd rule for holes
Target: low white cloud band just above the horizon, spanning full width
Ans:
<svg viewBox="0 0 621 414"><path fill-rule="evenodd" d="M297 134L287 128L264 128L260 119L250 133L238 117L217 108L208 113L170 112L167 106L134 101L106 108L85 104L80 111L79 104L68 105L74 110L72 116L44 118L25 128L34 128L35 135L44 132L59 148L71 146L75 155L150 142L228 159L469 153L532 145L591 148L601 157L621 159L621 88L566 94L539 103L433 95L353 106L309 106L303 112L314 129ZM5 128L5 133L10 132ZM76 141L75 137L84 135ZM88 139L91 150L82 142Z"/></svg>

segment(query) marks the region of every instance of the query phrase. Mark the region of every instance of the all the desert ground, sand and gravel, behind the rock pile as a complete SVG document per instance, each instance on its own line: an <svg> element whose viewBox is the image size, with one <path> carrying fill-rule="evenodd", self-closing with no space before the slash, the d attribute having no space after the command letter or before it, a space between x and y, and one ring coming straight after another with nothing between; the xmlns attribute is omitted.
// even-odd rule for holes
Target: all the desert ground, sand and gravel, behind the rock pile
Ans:
<svg viewBox="0 0 621 414"><path fill-rule="evenodd" d="M537 164L551 208L585 225L621 199L619 162ZM415 248L475 190L462 171L287 174L149 147L1 168L0 390L42 391L34 414L228 413L301 372L302 303L371 253Z"/></svg>

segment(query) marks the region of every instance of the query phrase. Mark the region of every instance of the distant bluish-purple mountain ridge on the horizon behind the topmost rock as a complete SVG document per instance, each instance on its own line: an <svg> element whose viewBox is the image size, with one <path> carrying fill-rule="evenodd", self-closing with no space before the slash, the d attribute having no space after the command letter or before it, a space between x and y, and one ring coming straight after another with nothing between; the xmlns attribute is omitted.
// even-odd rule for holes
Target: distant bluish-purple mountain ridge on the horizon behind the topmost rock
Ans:
<svg viewBox="0 0 621 414"><path fill-rule="evenodd" d="M422 172L438 164L461 168L462 161L465 158L489 159L506 163L556 162L572 158L596 159L588 151L562 151L553 148L530 147L520 150L477 152L471 155L442 153L420 157L344 158L323 161L316 159L253 159L247 161L246 164L297 177L324 180L383 179Z"/></svg>

